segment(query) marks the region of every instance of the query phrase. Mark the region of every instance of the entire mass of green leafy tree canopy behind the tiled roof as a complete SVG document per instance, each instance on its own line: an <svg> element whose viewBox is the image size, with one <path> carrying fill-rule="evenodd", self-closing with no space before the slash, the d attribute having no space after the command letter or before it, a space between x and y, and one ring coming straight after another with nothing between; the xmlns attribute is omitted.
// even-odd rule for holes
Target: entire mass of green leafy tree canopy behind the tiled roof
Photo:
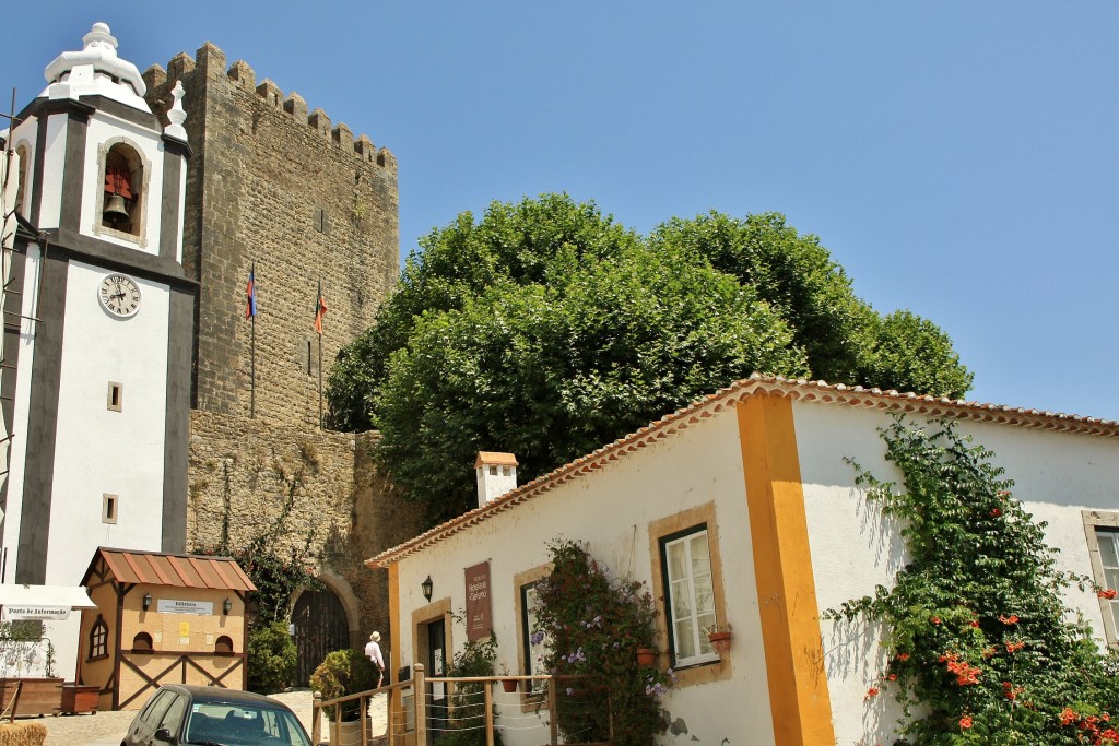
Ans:
<svg viewBox="0 0 1119 746"><path fill-rule="evenodd" d="M432 520L474 504L478 451L533 479L754 371L960 396L934 324L885 319L778 214L674 218L642 237L593 202L493 202L421 240L377 323L339 353L336 427ZM895 318L896 317L896 318Z"/></svg>

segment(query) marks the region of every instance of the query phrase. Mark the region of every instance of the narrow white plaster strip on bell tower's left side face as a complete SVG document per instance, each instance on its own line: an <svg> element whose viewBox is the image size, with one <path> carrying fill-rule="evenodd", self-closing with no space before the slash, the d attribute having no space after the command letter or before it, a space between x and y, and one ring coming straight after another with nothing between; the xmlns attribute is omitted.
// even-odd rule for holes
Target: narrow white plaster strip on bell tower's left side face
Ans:
<svg viewBox="0 0 1119 746"><path fill-rule="evenodd" d="M3 549L0 550L0 582L11 583L16 578L19 560L19 528L23 510L23 475L27 466L27 418L28 397L31 389L31 361L35 359L35 329L31 320L39 302L39 267L41 253L38 245L27 248L23 270L23 304L19 320L19 367L16 369L16 402L12 409L11 455L8 473L8 506L3 519Z"/></svg>

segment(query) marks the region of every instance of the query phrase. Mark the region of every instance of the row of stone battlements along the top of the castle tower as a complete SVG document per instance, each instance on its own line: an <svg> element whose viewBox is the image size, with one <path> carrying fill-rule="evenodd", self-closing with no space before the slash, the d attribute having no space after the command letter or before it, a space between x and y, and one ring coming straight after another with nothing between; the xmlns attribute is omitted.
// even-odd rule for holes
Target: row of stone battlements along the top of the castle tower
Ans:
<svg viewBox="0 0 1119 746"><path fill-rule="evenodd" d="M245 60L238 59L227 68L225 53L209 41L199 47L194 57L185 51L179 53L168 63L167 69L152 65L144 70L142 77L149 91L157 91L162 89L164 85L175 85L177 81L196 70L203 72L210 82L224 81L235 88L255 92L266 105L289 114L297 122L307 124L323 139L332 141L340 150L354 152L363 160L384 167L393 173L396 172L396 157L391 150L378 149L365 133L355 138L352 130L344 122L332 124L330 116L321 108L309 111L307 101L294 91L285 95L283 89L269 78L264 78L257 85L256 73ZM187 96L189 95L188 87ZM170 102L160 100L157 103L162 106L157 114L166 116Z"/></svg>

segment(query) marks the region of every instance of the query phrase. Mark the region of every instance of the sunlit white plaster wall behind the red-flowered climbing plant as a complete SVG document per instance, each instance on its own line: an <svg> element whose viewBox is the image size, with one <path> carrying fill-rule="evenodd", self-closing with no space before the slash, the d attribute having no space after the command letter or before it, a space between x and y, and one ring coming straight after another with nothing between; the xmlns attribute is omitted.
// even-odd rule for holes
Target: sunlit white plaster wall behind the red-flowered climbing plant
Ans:
<svg viewBox="0 0 1119 746"><path fill-rule="evenodd" d="M814 577L821 611L871 595L875 585L893 585L904 564L899 526L882 519L855 487L855 459L884 480L900 474L883 457L885 444L876 428L888 426L888 415L846 406L794 403L800 470L805 482ZM1015 481L1013 494L1038 520L1050 522L1046 538L1061 549L1061 569L1091 575L1080 511L1085 508L1119 510L1119 443L1089 435L1053 433L1025 427L961 423L996 454ZM854 548L854 551L853 551ZM1099 603L1092 593L1068 597L1097 629L1102 629ZM886 654L880 648L880 629L858 626L841 633L821 622L828 687L837 744L892 743L899 710L892 692L878 680ZM883 693L864 700L871 686Z"/></svg>

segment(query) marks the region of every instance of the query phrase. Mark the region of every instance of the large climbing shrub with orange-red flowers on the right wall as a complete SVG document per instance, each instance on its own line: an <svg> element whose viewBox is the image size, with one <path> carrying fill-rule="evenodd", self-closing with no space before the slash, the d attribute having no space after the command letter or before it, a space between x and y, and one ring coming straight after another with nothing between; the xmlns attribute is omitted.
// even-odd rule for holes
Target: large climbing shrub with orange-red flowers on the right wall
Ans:
<svg viewBox="0 0 1119 746"><path fill-rule="evenodd" d="M824 614L885 625L890 658L867 701L894 690L899 730L918 744L1119 743L1115 657L1062 601L1087 580L1056 569L1045 523L994 454L939 425L899 418L882 432L904 489L853 464L867 499L900 519L910 556L893 588Z"/></svg>

